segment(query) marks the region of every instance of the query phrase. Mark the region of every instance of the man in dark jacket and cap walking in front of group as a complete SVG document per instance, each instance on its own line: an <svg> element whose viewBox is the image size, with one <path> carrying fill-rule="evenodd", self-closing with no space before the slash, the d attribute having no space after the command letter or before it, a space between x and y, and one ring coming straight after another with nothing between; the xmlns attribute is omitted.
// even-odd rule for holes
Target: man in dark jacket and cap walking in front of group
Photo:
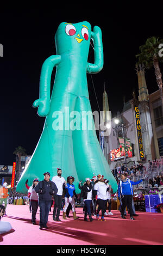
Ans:
<svg viewBox="0 0 163 256"><path fill-rule="evenodd" d="M43 173L44 180L39 181L34 190L39 194L40 207L40 229L48 228L48 215L52 204L52 196L57 194L58 188L53 181L50 180L49 172Z"/></svg>

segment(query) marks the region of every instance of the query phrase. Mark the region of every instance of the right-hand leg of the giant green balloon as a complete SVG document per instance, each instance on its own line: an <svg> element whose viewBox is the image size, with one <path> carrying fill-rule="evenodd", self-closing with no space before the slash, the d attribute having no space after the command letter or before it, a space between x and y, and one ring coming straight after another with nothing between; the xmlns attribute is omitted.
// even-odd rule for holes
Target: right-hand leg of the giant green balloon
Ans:
<svg viewBox="0 0 163 256"><path fill-rule="evenodd" d="M83 117L80 131L73 131L73 151L77 173L80 180L92 178L92 176L102 174L109 179L114 192L117 191L117 182L112 175L109 164L106 161L102 149L99 145L94 121L91 112L90 101L87 97L78 97L76 101L76 111ZM86 113L87 118L85 119ZM90 123L89 123L90 121ZM92 129L91 129L92 122ZM86 123L86 124L85 124ZM83 126L83 127L82 127Z"/></svg>

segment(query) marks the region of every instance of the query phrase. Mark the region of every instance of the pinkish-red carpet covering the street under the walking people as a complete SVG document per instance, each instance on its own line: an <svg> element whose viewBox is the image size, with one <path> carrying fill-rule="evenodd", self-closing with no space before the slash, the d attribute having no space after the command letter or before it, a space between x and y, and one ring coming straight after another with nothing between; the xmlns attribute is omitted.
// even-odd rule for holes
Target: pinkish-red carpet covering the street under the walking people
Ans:
<svg viewBox="0 0 163 256"><path fill-rule="evenodd" d="M52 208L53 211L53 208ZM53 221L49 212L48 229L39 229L39 209L36 225L31 223L29 205L7 206L7 215L1 221L10 222L12 230L0 235L0 245L163 245L163 214L136 212L134 221L121 218L120 212L105 217L106 221L85 222L83 209L76 208L78 220L70 218Z"/></svg>

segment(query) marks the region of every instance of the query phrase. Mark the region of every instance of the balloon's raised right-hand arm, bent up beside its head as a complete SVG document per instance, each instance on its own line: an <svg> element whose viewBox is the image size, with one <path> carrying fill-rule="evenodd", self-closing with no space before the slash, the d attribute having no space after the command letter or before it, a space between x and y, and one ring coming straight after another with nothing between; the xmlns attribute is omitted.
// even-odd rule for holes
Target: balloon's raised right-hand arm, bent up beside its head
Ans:
<svg viewBox="0 0 163 256"><path fill-rule="evenodd" d="M104 64L101 28L95 26L91 32L91 38L94 44L95 63L87 63L87 73L96 74L102 70Z"/></svg>

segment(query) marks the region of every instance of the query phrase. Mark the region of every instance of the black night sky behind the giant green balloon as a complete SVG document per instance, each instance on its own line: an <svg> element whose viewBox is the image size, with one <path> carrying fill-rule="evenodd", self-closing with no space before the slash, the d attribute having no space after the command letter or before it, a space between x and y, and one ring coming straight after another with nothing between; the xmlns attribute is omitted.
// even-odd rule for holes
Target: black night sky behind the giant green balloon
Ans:
<svg viewBox="0 0 163 256"><path fill-rule="evenodd" d="M135 90L138 96L135 54L149 36L163 38L161 4L142 7L116 3L86 9L49 7L1 9L0 44L4 57L0 58L1 126L0 164L12 165L13 152L21 145L32 155L39 141L45 118L37 115L33 102L39 98L41 66L46 58L56 54L54 35L61 22L90 22L92 29L102 29L104 68L92 75L99 108L102 111L103 84L108 93L112 115L122 111L123 96L128 101ZM89 62L93 61L90 46ZM162 64L160 65L162 72ZM52 73L53 87L55 68ZM98 111L91 76L87 75L92 111ZM149 94L158 90L154 69L146 71Z"/></svg>

